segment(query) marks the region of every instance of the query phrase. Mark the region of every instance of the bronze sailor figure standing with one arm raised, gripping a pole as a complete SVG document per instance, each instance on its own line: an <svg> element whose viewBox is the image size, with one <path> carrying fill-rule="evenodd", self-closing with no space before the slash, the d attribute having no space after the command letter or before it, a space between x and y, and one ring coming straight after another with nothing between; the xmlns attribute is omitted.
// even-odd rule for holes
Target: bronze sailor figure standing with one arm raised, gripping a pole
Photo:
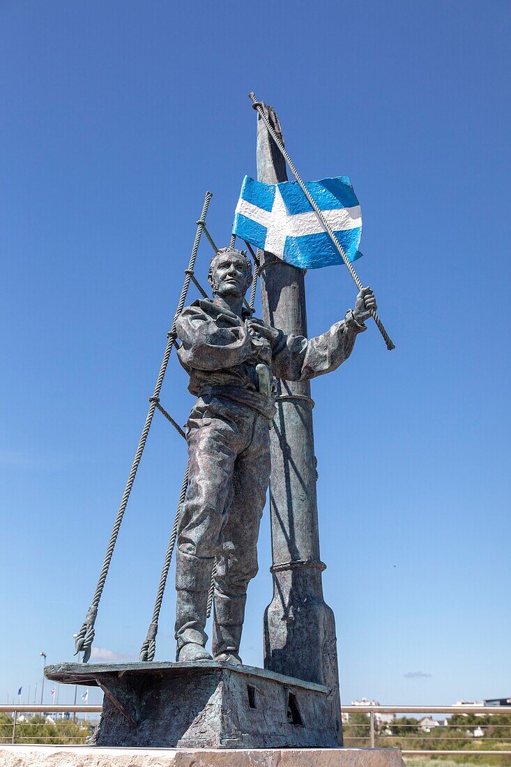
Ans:
<svg viewBox="0 0 511 767"><path fill-rule="evenodd" d="M187 423L190 486L176 553L176 660L211 660L206 608L213 563L213 658L241 663L246 591L257 573L257 539L270 476L272 377L308 380L351 354L376 310L371 288L316 338L285 335L243 306L252 281L246 253L224 248L209 266L213 301L195 301L176 321L180 362L198 397Z"/></svg>

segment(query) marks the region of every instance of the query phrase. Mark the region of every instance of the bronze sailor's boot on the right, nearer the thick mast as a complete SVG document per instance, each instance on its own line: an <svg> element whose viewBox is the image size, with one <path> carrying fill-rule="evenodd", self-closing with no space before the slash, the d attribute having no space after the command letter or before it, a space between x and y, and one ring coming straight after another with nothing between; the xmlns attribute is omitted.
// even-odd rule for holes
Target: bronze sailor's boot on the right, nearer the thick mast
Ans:
<svg viewBox="0 0 511 767"><path fill-rule="evenodd" d="M215 589L213 619L213 658L227 663L242 663L239 657L246 594L229 597Z"/></svg>

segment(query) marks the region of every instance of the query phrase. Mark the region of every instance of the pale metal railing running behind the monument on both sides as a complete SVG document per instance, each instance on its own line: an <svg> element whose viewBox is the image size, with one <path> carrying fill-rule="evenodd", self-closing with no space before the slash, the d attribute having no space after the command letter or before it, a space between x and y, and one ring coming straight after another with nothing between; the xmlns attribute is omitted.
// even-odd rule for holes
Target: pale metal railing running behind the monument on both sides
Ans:
<svg viewBox="0 0 511 767"><path fill-rule="evenodd" d="M2 714L7 714L8 716L12 716L12 721L2 722L0 719L0 743L16 743L17 740L17 733L18 733L18 742L62 742L62 739L66 739L66 743L68 745L71 745L71 742L85 742L86 737L86 729L87 726L91 725L91 722L87 722L87 717L91 714L97 714L101 713L102 706L30 706L30 705L24 705L24 706L15 706L15 705L4 705L0 706L0 716ZM364 705L364 706L342 706L342 713L343 715L351 716L352 714L368 714L368 724L362 724L362 723L353 723L348 720L348 723L345 723L345 746L350 746L350 741L355 741L356 745L358 746L369 746L371 748L384 748L384 747L391 747L395 746L395 741L397 739L401 741L410 741L410 740L420 740L424 741L425 739L431 739L433 740L433 736L430 736L430 738L427 738L427 735L429 735L429 732L423 731L423 734L413 734L410 736L407 735L401 735L401 736L395 736L392 734L392 724L393 722L397 725L400 723L400 716L404 716L405 714L445 714L447 717L453 716L453 714L476 714L476 715L484 715L484 716L495 716L498 714L504 714L507 717L509 717L509 723L505 724L483 724L480 726L480 729L484 732L485 728L491 727L492 729L499 730L501 734L501 742L506 742L506 745L509 746L509 750L505 749L483 749L480 747L477 748L463 748L463 749L424 749L424 748L411 748L411 749L402 749L402 752L405 756L411 756L411 755L500 755L500 756L510 756L511 755L511 706L371 706L371 705ZM45 715L45 716L51 716L51 714L61 714L61 719L56 719L54 722L48 724L46 721L43 722L37 722L32 723L31 719L25 719L23 721L23 725L26 725L25 730L28 730L30 735L30 740L27 740L27 735L25 732L21 731L21 722L20 722L20 716L23 714L35 714L35 715ZM64 714L73 715L73 719L68 718L64 719ZM85 715L85 721L84 719L77 719L77 714ZM392 714L394 717L397 717L393 719L391 722L386 722L381 719L381 715L388 715ZM71 737L66 732L67 726L70 724L77 724L78 726L81 726L84 729L84 734L80 737ZM51 732L48 731L48 728L51 728L52 726L55 727L54 730L51 730ZM36 727L46 728L46 734L44 734L44 731L41 730L41 736L38 735L32 735L33 732L38 732L36 730ZM364 733L361 734L359 737L356 733L352 734L352 730L356 729L357 727L364 728ZM413 731L414 733L417 733L417 729L421 729L420 724L417 723L410 723L410 724L401 724L400 729L405 730L406 728L410 729L410 733ZM473 725L471 725L473 727ZM368 732L365 732L368 729ZM456 740L459 742L460 740L466 741L466 745L469 746L475 742L480 743L481 746L483 746L484 737L477 738L473 735L470 736L468 734L460 733L460 729L463 729L460 727L460 723L457 724L450 724L447 720L447 724L442 724L439 726L432 726L430 729L434 729L435 732L437 730L442 729L443 732L453 732L456 730L457 734L452 736L453 740ZM450 737L450 736L449 736ZM495 739L492 739L493 742ZM363 741L362 743L359 741ZM355 745L355 744L353 744Z"/></svg>

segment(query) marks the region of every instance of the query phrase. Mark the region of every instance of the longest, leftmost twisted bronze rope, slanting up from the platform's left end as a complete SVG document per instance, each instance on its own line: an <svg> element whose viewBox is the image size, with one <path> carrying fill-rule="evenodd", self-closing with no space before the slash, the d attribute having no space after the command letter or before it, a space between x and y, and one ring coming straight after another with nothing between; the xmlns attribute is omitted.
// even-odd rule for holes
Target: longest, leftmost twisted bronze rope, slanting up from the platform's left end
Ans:
<svg viewBox="0 0 511 767"><path fill-rule="evenodd" d="M209 200L212 198L212 196L213 195L210 192L206 192L206 196L204 198L204 204L203 204L203 212L200 215L201 221L203 221L203 219L206 218L206 213L209 207ZM94 641L94 624L96 622L96 617L97 617L97 607L101 600L101 594L103 594L105 581L107 580L108 568L110 567L110 560L112 558L112 555L114 554L114 548L117 542L117 535L119 534L120 524L123 521L124 512L126 511L126 507L127 507L127 502L128 502L128 499L130 498L131 488L133 487L135 476L137 475L137 469L140 464L140 459L142 457L143 449L146 446L147 435L149 434L151 423L153 422L154 410L156 410L157 401L160 398L160 390L163 384L163 377L165 377L166 366L169 362L170 351L172 350L173 344L176 341L176 320L181 314L181 312L183 311L183 307L186 301L186 294L188 293L188 288L190 287L190 279L192 277L193 267L195 266L196 255L199 249L200 236L202 232L203 232L203 227L200 225L197 225L195 240L193 241L193 248L190 255L190 265L188 266L188 269L186 270L183 289L181 291L180 301L177 306L176 314L174 315L172 329L170 330L170 333L167 336L166 347L165 347L165 352L163 354L163 360L160 367L160 372L158 374L157 382L154 387L153 396L150 397L150 405L149 405L149 410L147 412L146 422L143 425L143 430L140 435L137 452L135 453L133 463L131 464L130 474L128 476L127 483L124 488L123 497L120 501L120 506L117 511L117 517L115 519L114 528L110 535L110 542L108 543L107 552L104 557L104 562L103 562L103 567L101 568L100 577L97 581L97 587L96 587L96 591L94 592L94 597L91 603L91 607L89 607L87 611L87 615L85 617L85 621L82 624L82 627L77 634L76 643L74 646L74 654L77 655L78 653L81 653L81 652L84 653L84 656L82 658L82 663L87 663L87 661L91 657L91 647Z"/></svg>

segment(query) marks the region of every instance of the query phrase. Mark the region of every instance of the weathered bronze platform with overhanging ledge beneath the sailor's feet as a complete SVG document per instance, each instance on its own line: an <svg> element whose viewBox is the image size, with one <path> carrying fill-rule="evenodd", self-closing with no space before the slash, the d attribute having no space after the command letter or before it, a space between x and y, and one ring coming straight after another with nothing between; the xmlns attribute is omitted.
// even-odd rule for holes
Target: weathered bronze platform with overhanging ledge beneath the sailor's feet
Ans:
<svg viewBox="0 0 511 767"><path fill-rule="evenodd" d="M63 663L60 683L104 691L96 746L333 747L328 688L269 670L203 663Z"/></svg>

